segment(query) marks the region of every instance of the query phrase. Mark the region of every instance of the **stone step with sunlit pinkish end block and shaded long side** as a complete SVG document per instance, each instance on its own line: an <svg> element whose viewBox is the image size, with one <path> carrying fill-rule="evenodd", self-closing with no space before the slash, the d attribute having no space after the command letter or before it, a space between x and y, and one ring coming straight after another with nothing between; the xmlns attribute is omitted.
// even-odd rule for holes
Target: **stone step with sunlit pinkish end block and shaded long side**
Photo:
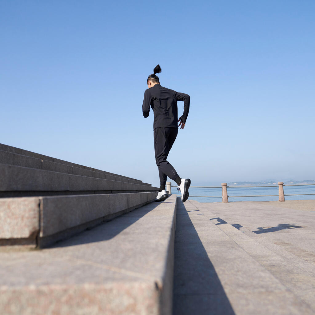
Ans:
<svg viewBox="0 0 315 315"><path fill-rule="evenodd" d="M0 199L0 244L43 248L156 198L154 192Z"/></svg>

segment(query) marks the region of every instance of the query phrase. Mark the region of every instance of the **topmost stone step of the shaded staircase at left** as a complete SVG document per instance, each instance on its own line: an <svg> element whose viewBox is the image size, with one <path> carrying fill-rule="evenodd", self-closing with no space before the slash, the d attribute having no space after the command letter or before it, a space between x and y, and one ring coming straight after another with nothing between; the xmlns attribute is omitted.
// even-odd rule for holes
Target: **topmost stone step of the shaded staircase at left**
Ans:
<svg viewBox="0 0 315 315"><path fill-rule="evenodd" d="M54 162L54 163L58 163L58 164L68 165L68 166L72 166L72 167L76 167L76 168L80 168L80 169L94 171L94 172L97 172L97 173L102 173L102 174L106 174L106 175L112 175L112 176L122 177L122 178L129 179L129 180L135 180L135 181L142 182L142 180L137 180L135 178L131 178L131 177L123 176L123 175L117 175L117 174L114 174L114 173L102 171L100 169L95 169L95 168L91 168L91 167L88 167L88 166L84 166L84 165L80 165L80 164L76 164L76 163L71 163L71 162L68 162L68 161L63 161L63 160L60 160L58 158L49 157L49 156L46 156L46 155L43 155L43 154L39 154L39 153L35 153L35 152L19 149L19 148L16 148L14 146L8 146L8 145L2 144L2 143L0 143L0 150L4 151L4 152L15 153L15 154L22 155L22 156L34 157L34 158L37 158L37 159L40 159L40 160L45 160L45 161ZM0 161L0 163L3 163L3 162ZM31 162L26 162L26 163L31 163ZM46 164L47 164L47 167L49 167L49 163L46 163ZM18 165L18 164L16 164L16 165ZM24 166L24 165L18 165L18 166ZM33 167L33 166L28 166L28 167L37 168L37 167ZM80 175L80 174L76 174L76 175Z"/></svg>

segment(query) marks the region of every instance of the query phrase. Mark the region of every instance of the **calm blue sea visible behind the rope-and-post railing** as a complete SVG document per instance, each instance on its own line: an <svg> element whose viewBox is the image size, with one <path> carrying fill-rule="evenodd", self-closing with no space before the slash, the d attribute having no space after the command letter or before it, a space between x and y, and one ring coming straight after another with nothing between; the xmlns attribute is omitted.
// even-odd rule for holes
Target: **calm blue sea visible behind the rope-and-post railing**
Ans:
<svg viewBox="0 0 315 315"><path fill-rule="evenodd" d="M284 186L285 200L305 200L315 199L315 185L312 186ZM172 187L172 192L177 192L176 187ZM310 194L286 196L293 194ZM313 195L312 195L313 194ZM277 201L278 186L276 187L227 187L227 195L229 201ZM257 195L276 195L271 197L259 197ZM193 196L212 196L212 197L193 197ZM242 196L242 197L233 197ZM257 196L257 197L243 197L243 196ZM197 200L198 202L222 202L222 188L189 188L189 198Z"/></svg>

